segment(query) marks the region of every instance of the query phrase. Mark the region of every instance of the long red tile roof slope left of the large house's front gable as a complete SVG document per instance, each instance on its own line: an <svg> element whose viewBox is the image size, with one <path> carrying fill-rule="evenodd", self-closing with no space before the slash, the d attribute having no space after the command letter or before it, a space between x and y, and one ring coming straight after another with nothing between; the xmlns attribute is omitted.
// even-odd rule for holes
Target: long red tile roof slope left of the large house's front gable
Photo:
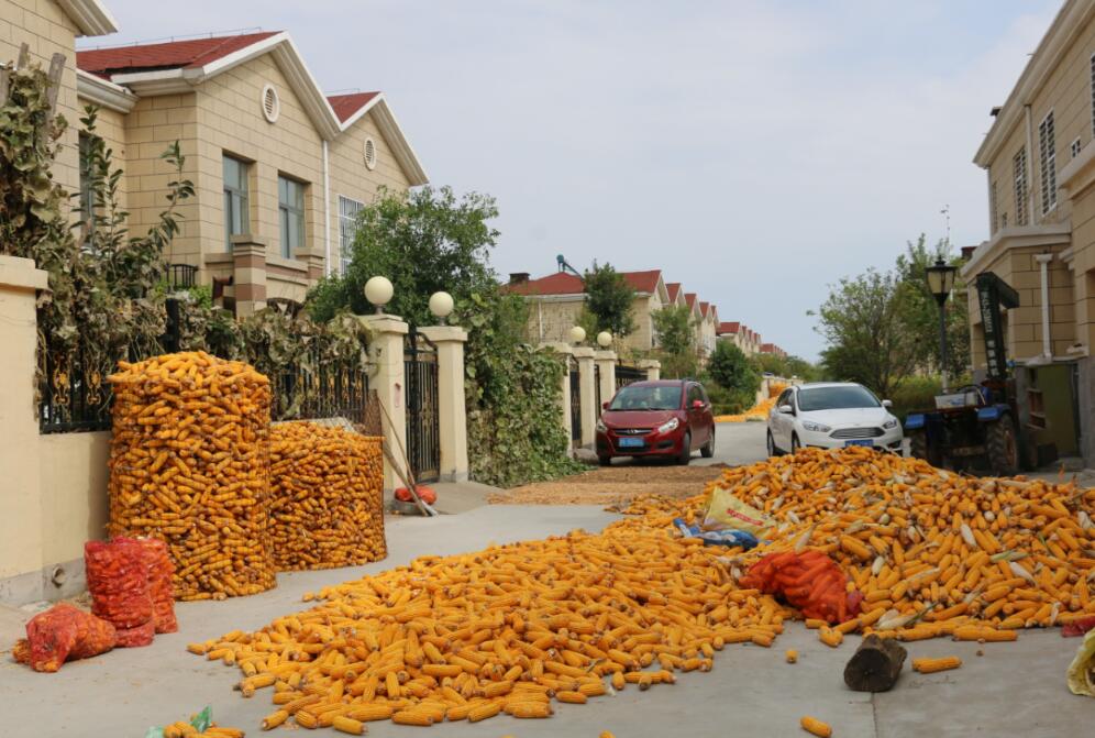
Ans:
<svg viewBox="0 0 1095 738"><path fill-rule="evenodd" d="M76 66L100 77L110 77L111 74L119 71L201 67L278 33L280 31L93 48L77 52Z"/></svg>

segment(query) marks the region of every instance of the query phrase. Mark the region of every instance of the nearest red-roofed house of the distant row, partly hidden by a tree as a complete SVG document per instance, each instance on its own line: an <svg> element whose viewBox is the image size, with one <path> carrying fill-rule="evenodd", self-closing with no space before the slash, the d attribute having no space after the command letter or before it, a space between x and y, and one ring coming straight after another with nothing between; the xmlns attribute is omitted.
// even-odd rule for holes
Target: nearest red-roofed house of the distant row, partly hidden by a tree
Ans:
<svg viewBox="0 0 1095 738"><path fill-rule="evenodd" d="M624 338L624 343L637 351L649 351L657 342L654 312L670 302L665 280L661 269L621 274L635 290L632 302L635 330ZM522 295L530 302L528 330L532 340L540 343L569 341L571 328L577 324L586 301L585 286L579 277L556 272L531 279L528 273L515 273L506 289Z"/></svg>

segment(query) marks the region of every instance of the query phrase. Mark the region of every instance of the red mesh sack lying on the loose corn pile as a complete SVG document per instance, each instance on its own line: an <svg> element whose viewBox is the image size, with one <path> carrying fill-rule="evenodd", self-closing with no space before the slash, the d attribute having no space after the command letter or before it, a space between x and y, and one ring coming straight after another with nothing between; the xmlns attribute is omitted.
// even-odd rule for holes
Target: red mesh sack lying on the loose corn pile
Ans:
<svg viewBox="0 0 1095 738"><path fill-rule="evenodd" d="M741 585L781 597L804 616L830 624L860 614L862 597L848 592L848 576L816 549L770 553L749 568Z"/></svg>

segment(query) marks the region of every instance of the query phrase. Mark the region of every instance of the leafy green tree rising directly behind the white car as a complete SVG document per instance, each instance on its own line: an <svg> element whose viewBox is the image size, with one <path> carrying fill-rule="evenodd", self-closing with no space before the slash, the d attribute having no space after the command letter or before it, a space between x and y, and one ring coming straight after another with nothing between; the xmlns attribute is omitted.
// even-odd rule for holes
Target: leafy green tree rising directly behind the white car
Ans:
<svg viewBox="0 0 1095 738"><path fill-rule="evenodd" d="M905 321L905 287L892 273L869 269L840 280L817 313L817 330L828 346L821 352L826 373L859 382L882 396L908 376L925 348Z"/></svg>

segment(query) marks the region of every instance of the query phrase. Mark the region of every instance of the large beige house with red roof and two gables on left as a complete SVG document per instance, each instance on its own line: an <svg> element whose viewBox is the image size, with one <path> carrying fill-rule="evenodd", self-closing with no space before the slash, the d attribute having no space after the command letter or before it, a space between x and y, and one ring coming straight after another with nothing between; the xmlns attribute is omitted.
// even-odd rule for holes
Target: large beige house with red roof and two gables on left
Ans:
<svg viewBox="0 0 1095 738"><path fill-rule="evenodd" d="M41 3L40 3L41 4ZM381 92L325 96L284 32L80 51L79 103L125 170L142 231L164 208L174 141L196 197L180 208L172 263L225 286L239 315L300 301L342 267L354 216L381 186L425 173ZM231 284L230 284L231 283Z"/></svg>

